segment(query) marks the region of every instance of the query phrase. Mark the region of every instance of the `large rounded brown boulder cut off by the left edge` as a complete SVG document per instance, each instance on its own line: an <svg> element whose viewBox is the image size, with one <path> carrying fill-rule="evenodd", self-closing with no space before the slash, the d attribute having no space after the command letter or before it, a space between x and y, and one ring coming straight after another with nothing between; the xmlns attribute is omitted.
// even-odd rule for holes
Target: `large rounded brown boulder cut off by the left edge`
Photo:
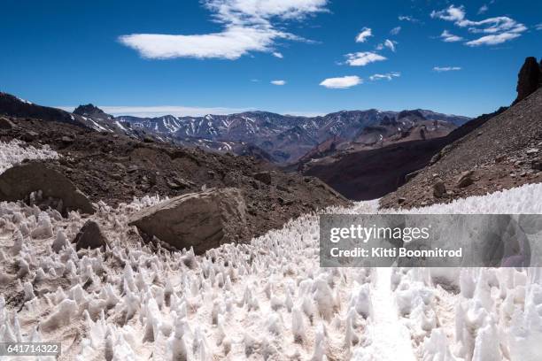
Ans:
<svg viewBox="0 0 542 361"><path fill-rule="evenodd" d="M16 165L0 174L0 201L24 200L38 190L42 191L43 199L62 200L63 211L95 212L89 198L71 180L44 163Z"/></svg>

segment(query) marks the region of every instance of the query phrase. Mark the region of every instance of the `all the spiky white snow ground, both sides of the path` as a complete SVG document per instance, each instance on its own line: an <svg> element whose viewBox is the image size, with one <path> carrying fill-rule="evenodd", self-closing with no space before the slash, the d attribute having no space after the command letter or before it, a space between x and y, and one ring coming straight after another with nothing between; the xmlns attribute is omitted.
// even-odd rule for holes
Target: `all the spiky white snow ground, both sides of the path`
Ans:
<svg viewBox="0 0 542 361"><path fill-rule="evenodd" d="M541 197L528 185L412 212L539 213ZM320 268L314 214L251 244L170 254L127 226L157 202L99 204L111 247L79 254L78 213L0 203L0 342L62 342L61 359L79 360L542 359L538 269Z"/></svg>

